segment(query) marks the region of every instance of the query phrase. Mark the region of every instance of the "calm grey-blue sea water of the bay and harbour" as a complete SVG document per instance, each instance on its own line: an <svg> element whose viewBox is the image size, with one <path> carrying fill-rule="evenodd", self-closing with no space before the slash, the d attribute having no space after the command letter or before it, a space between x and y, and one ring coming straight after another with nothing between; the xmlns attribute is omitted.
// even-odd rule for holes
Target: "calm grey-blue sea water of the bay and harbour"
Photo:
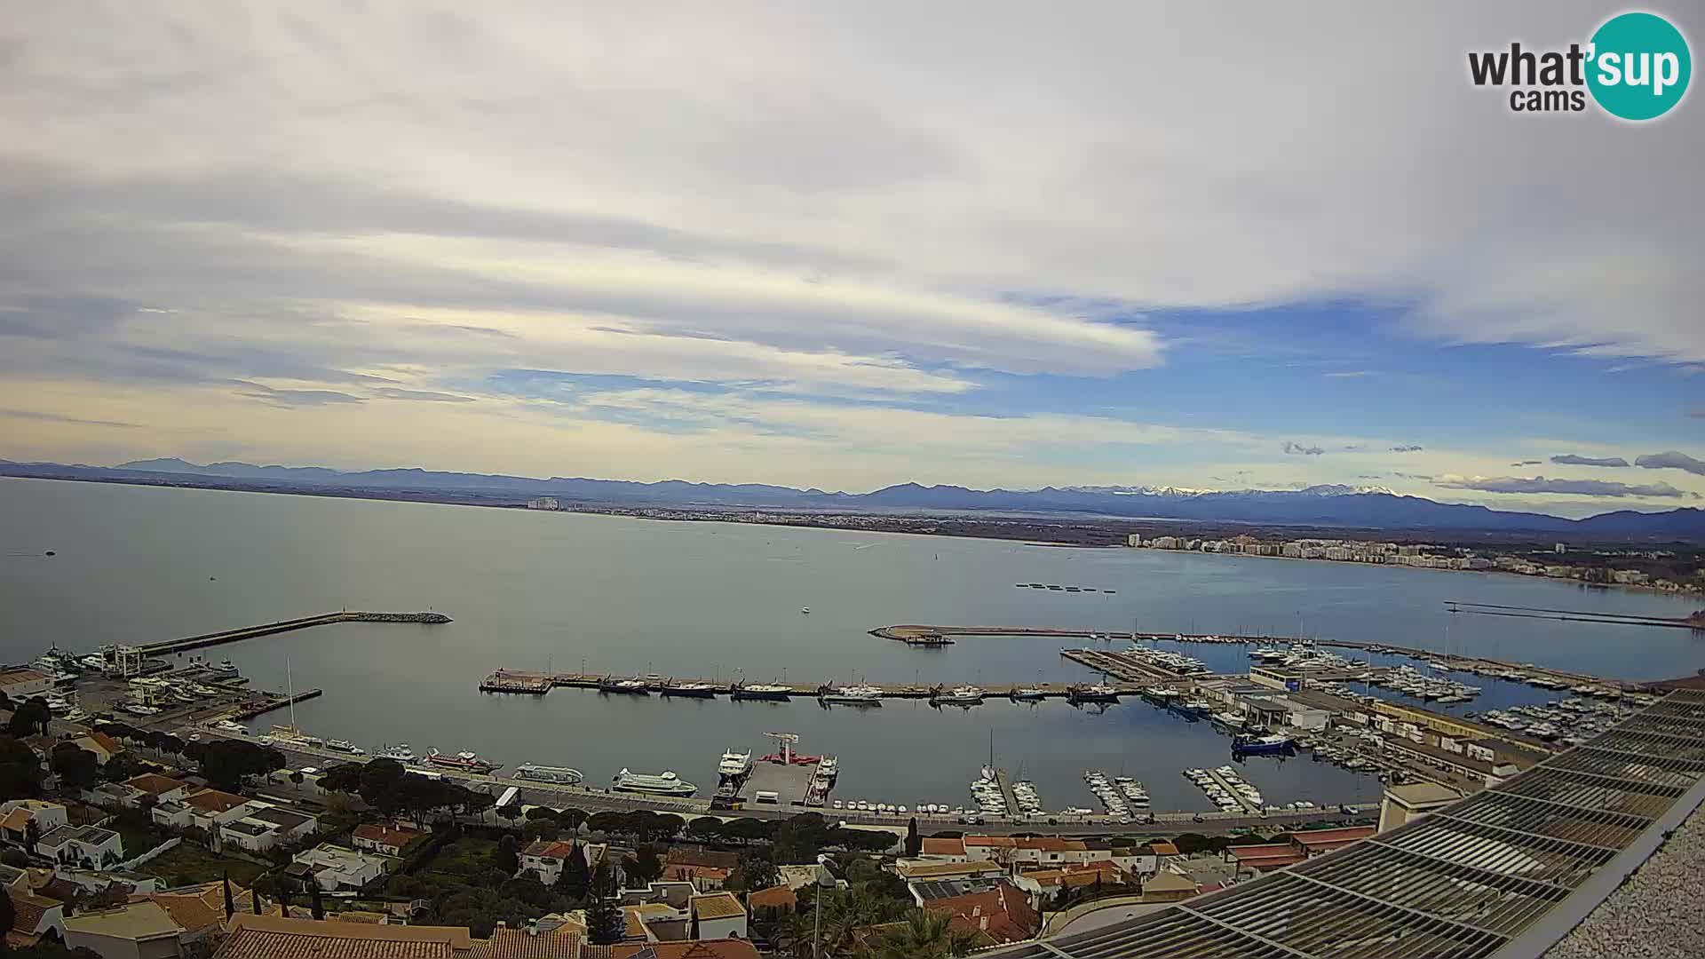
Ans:
<svg viewBox="0 0 1705 959"><path fill-rule="evenodd" d="M767 753L764 732L798 732L803 751L842 758L841 799L957 805L968 800L965 783L987 759L992 730L1001 764L1033 778L1049 807L1095 805L1081 773L1096 766L1142 778L1156 809L1204 809L1178 770L1226 761L1228 741L1146 703L1093 713L1004 701L970 712L822 710L571 689L529 698L481 695L481 676L500 665L795 683L1086 676L1059 657L1057 640L912 650L866 633L887 623L1282 633L1301 623L1316 636L1449 645L1621 677L1705 665L1705 640L1685 630L1449 616L1446 599L1669 616L1696 606L1349 563L0 478L0 659L27 660L51 642L89 650L343 606L440 609L455 623L326 626L218 655L264 688L283 688L288 655L298 688L326 689L298 708L310 732L370 749L409 742L508 764L575 764L588 782L626 764L673 768L708 787L725 747ZM1188 652L1224 671L1248 662L1241 647ZM1466 708L1552 696L1471 681L1487 693ZM1253 759L1245 775L1270 802L1378 795L1373 780L1308 759Z"/></svg>

